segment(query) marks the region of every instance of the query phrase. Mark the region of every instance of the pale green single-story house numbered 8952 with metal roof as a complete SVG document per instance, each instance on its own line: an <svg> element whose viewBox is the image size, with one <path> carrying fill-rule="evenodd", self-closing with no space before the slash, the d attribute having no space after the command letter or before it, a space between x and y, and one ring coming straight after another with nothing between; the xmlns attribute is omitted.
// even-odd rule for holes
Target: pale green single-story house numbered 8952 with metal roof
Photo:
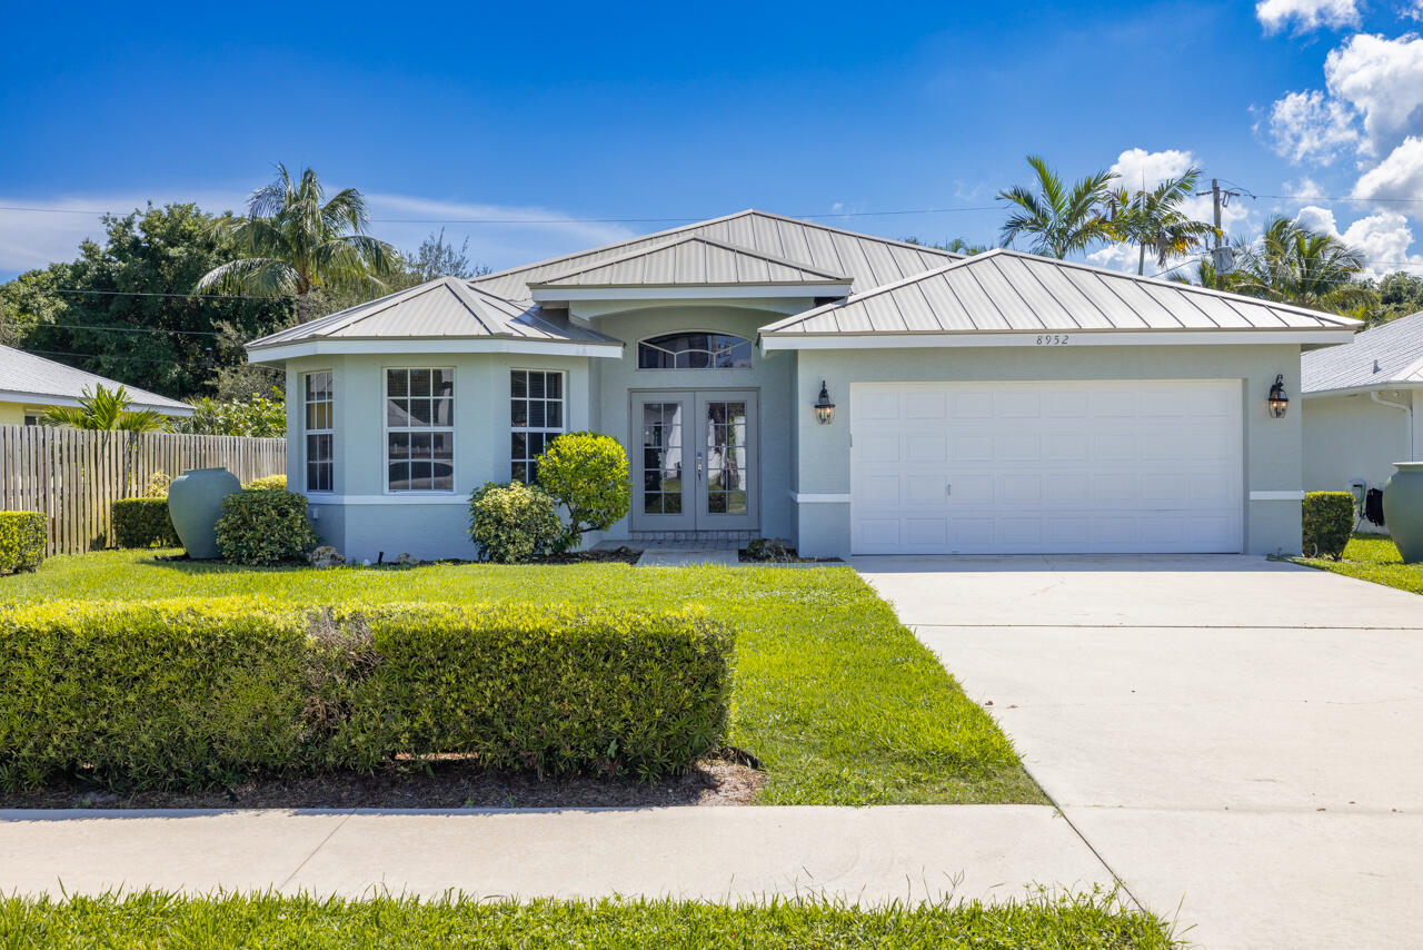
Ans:
<svg viewBox="0 0 1423 950"><path fill-rule="evenodd" d="M347 555L468 557L467 496L618 437L606 540L807 555L1299 550L1276 376L1355 320L1012 251L744 211L248 345L289 373L289 480ZM821 400L824 386L825 399ZM832 402L834 409L817 402Z"/></svg>

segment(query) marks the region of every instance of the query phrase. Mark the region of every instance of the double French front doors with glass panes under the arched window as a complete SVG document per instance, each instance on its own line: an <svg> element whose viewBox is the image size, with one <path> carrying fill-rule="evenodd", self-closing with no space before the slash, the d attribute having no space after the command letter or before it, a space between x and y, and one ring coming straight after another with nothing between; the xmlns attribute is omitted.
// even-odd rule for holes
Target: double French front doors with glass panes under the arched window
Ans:
<svg viewBox="0 0 1423 950"><path fill-rule="evenodd" d="M756 528L756 442L754 390L633 393L633 530Z"/></svg>

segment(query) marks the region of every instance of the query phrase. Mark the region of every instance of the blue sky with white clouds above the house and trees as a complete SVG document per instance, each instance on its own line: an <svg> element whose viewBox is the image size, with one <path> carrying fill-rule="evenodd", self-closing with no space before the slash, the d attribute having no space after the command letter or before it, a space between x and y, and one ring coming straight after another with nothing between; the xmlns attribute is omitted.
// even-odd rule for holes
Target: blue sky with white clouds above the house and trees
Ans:
<svg viewBox="0 0 1423 950"><path fill-rule="evenodd" d="M1306 195L1228 222L1302 214L1387 271L1423 249L1423 201L1338 199L1423 199L1420 1L26 4L0 205L240 208L285 161L367 192L404 248L440 219L599 219L444 225L498 268L747 207L990 242L996 209L862 212L993 205L1042 152ZM94 232L0 211L0 276Z"/></svg>

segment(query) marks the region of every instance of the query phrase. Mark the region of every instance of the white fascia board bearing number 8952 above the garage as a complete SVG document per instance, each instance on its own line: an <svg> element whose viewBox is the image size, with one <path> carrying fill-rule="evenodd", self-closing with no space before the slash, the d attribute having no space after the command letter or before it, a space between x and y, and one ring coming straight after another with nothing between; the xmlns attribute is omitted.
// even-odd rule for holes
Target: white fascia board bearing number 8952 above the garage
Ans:
<svg viewBox="0 0 1423 950"><path fill-rule="evenodd" d="M763 350L918 349L955 346L1220 346L1244 343L1348 343L1350 329L1279 330L1042 330L1012 333L780 333L763 335Z"/></svg>

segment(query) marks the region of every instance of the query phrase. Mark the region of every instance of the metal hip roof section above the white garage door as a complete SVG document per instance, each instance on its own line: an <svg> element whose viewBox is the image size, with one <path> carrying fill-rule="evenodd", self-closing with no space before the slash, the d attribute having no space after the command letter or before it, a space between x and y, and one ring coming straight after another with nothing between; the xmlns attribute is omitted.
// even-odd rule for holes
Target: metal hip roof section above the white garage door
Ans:
<svg viewBox="0 0 1423 950"><path fill-rule="evenodd" d="M763 336L1348 329L1332 313L993 249L761 328Z"/></svg>

